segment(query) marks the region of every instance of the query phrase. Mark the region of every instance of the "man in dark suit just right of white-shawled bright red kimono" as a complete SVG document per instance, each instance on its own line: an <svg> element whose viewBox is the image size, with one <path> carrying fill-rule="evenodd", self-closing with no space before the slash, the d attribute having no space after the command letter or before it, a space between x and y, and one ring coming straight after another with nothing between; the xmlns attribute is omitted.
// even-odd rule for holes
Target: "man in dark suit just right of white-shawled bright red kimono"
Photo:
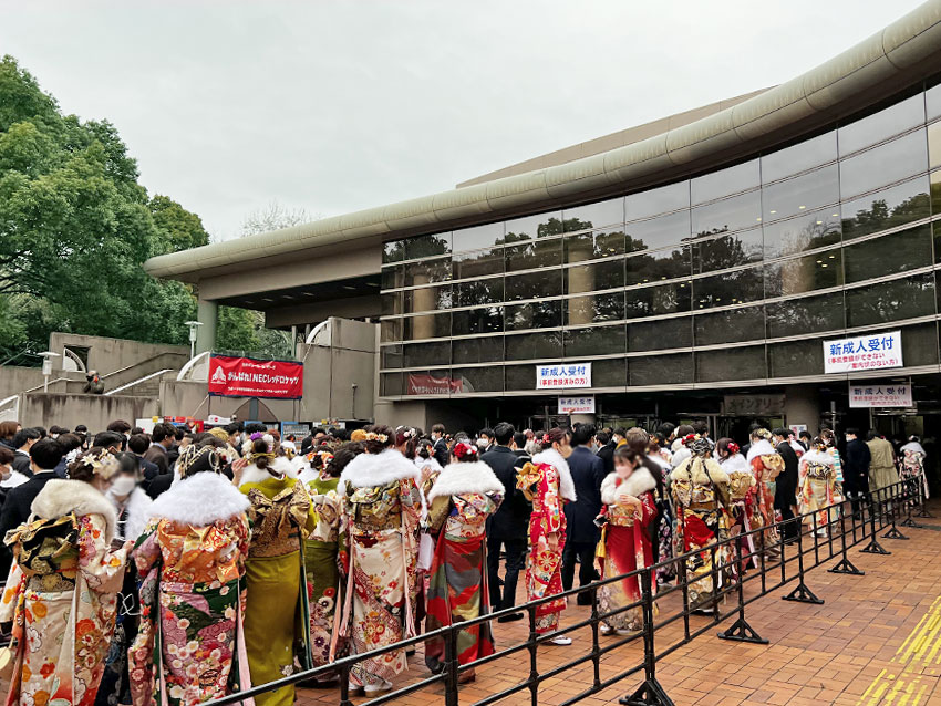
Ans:
<svg viewBox="0 0 941 706"><path fill-rule="evenodd" d="M594 518L601 511L601 481L604 463L591 453L594 442L593 424L576 424L572 428L572 453L568 457L575 482L575 502L566 505L566 547L562 550L562 589L568 591L575 580L575 561L578 558L578 582L586 586L594 580L594 549L600 530ZM579 605L591 605L591 594L578 594Z"/></svg>

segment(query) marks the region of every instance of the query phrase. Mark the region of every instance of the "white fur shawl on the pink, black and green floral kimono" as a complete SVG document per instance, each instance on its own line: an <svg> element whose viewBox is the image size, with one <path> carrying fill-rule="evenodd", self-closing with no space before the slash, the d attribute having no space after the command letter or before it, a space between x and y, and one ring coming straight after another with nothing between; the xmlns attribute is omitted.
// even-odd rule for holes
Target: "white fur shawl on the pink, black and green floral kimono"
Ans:
<svg viewBox="0 0 941 706"><path fill-rule="evenodd" d="M248 498L228 478L204 470L184 478L154 500L149 515L152 518L206 527L240 515L249 506Z"/></svg>

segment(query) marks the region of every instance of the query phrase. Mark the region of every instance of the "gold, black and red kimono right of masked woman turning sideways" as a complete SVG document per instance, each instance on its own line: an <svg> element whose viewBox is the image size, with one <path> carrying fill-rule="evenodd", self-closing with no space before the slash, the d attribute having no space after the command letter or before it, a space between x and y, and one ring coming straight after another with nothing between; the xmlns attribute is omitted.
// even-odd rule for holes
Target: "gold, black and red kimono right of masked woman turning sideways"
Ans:
<svg viewBox="0 0 941 706"><path fill-rule="evenodd" d="M726 549L716 550L716 567L712 565L711 548L728 537L731 519L728 475L711 458L692 456L670 474L670 490L676 508L676 529L683 552L695 552L686 559L690 608L712 608L713 574L722 583L722 569L728 565Z"/></svg>

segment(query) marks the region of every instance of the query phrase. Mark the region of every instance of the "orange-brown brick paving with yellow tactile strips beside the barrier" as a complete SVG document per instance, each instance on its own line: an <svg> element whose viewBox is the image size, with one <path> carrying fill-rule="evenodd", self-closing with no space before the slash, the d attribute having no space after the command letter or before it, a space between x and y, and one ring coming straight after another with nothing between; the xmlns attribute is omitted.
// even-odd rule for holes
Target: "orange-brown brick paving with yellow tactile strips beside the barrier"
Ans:
<svg viewBox="0 0 941 706"><path fill-rule="evenodd" d="M769 645L734 643L715 637L710 630L692 643L679 647L658 663L658 677L678 706L789 704L810 706L941 706L941 503L933 505L939 519L924 529L904 529L909 541L880 539L892 551L882 557L862 554L851 549L850 559L866 571L865 577L831 574L828 561L809 571L808 586L823 605L792 603L780 596L794 584L758 599L746 608L746 617ZM860 544L861 547L861 544ZM821 549L825 553L826 549ZM796 563L788 564L788 575ZM747 594L757 589L749 588ZM679 595L663 600L659 621L674 614ZM727 610L733 606L730 604ZM589 615L589 609L569 606L562 624L571 625ZM733 616L734 619L734 616ZM694 616L692 630L706 625L710 619ZM525 642L525 622L494 625L498 650ZM682 621L656 631L658 652L675 643L683 634ZM571 634L568 647L541 646L538 652L540 672L560 666L591 650L591 633L581 629ZM616 638L602 637L601 646ZM612 651L601 657L601 679L621 674L641 663L640 642ZM396 686L426 678L421 650L410 658L409 672ZM529 674L527 652L518 652L477 671L477 681L461 687L461 704L479 699L525 681ZM539 687L539 703L558 706L588 688L593 678L591 663L566 669ZM640 684L640 675L630 676L598 694L586 697L588 706L617 704L625 693ZM529 700L521 692L504 699L504 704ZM299 689L301 706L325 706L339 703L339 689ZM366 703L354 698L355 704ZM440 685L425 687L394 703L422 706L443 704Z"/></svg>

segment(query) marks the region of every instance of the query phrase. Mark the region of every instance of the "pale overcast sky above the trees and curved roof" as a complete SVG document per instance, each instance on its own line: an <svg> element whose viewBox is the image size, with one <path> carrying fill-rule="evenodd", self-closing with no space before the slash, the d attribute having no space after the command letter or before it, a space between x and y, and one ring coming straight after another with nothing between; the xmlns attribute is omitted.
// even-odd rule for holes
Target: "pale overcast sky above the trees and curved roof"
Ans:
<svg viewBox="0 0 941 706"><path fill-rule="evenodd" d="M918 4L8 1L0 52L224 239L271 200L380 206L787 81Z"/></svg>

